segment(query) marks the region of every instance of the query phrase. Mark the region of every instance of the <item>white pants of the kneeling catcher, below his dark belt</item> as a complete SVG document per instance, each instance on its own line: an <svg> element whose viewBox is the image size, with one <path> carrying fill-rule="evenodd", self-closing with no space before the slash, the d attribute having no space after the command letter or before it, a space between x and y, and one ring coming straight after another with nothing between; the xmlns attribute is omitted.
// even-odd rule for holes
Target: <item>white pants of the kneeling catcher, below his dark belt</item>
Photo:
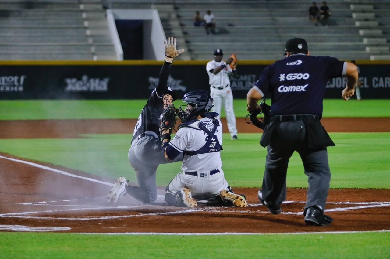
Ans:
<svg viewBox="0 0 390 259"><path fill-rule="evenodd" d="M215 196L222 190L226 190L229 184L225 180L225 175L221 168L219 173L209 175L210 172L198 172L198 175L186 175L184 172L178 173L170 182L169 190L172 192L181 191L183 187L191 190L191 195L210 195ZM202 173L207 173L206 177L202 177Z"/></svg>

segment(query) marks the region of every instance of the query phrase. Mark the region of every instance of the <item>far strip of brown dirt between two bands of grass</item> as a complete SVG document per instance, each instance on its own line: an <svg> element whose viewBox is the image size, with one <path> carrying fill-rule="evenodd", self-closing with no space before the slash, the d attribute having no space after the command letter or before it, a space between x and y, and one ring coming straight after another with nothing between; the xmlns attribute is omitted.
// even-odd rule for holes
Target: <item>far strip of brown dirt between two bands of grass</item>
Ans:
<svg viewBox="0 0 390 259"><path fill-rule="evenodd" d="M80 138L80 134L133 133L137 119L18 120L1 121L0 138ZM389 132L390 117L323 118L328 132ZM176 125L180 122L177 121ZM223 132L229 132L222 118ZM239 133L262 132L237 119Z"/></svg>

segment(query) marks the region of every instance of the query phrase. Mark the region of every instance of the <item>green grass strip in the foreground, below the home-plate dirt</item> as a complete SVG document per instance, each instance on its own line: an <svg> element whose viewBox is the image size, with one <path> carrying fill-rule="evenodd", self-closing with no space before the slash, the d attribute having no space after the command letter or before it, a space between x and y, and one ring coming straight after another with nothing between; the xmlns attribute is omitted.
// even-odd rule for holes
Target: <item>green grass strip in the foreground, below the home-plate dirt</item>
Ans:
<svg viewBox="0 0 390 259"><path fill-rule="evenodd" d="M389 258L388 233L81 235L0 233L3 258ZM367 242L369 240L369 242Z"/></svg>

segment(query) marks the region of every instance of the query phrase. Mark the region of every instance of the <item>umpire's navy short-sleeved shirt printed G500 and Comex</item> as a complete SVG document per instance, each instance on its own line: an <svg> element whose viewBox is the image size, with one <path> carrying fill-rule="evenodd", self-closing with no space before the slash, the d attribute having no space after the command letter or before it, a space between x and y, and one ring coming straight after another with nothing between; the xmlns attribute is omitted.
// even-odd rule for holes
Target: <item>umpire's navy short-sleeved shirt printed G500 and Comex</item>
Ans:
<svg viewBox="0 0 390 259"><path fill-rule="evenodd" d="M326 84L345 75L347 63L328 56L294 54L266 67L254 88L271 93L271 116L314 114L322 117Z"/></svg>

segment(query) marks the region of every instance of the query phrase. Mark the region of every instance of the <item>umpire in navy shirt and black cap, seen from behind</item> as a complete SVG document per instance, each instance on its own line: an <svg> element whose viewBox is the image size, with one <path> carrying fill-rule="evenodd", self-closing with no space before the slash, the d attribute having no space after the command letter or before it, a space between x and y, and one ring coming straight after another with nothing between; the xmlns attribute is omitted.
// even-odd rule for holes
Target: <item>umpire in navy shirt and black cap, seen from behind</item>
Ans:
<svg viewBox="0 0 390 259"><path fill-rule="evenodd" d="M348 79L342 98L355 92L358 80L353 63L328 56L309 56L304 39L290 39L285 44L286 58L264 69L260 79L247 94L247 109L259 107L265 94L271 93L271 119L264 129L260 144L267 147L262 189L258 198L272 214L282 212L286 200L286 174L290 157L297 151L308 176L305 223L329 225L333 219L324 214L330 183L326 147L335 144L321 125L323 98L330 78Z"/></svg>

